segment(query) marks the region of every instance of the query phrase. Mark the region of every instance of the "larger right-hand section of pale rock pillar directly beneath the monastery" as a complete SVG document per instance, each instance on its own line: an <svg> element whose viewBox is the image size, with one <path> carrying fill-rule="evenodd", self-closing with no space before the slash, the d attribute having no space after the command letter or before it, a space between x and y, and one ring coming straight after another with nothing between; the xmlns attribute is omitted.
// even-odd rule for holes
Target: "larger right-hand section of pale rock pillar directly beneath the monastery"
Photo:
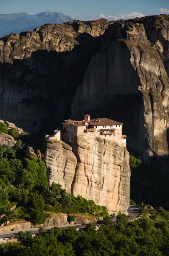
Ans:
<svg viewBox="0 0 169 256"><path fill-rule="evenodd" d="M128 151L93 133L79 135L77 145L73 195L82 195L110 211L126 211L130 204Z"/></svg>

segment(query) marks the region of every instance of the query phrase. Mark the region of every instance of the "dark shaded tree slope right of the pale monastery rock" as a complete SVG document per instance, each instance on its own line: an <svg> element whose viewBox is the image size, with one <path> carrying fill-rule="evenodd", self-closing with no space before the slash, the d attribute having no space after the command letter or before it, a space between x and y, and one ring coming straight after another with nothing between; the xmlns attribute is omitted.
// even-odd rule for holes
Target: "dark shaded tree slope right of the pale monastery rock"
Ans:
<svg viewBox="0 0 169 256"><path fill-rule="evenodd" d="M135 203L139 205L143 201L155 208L160 205L169 209L169 177L161 175L155 167L147 167L133 156L130 156L130 168L130 197Z"/></svg>

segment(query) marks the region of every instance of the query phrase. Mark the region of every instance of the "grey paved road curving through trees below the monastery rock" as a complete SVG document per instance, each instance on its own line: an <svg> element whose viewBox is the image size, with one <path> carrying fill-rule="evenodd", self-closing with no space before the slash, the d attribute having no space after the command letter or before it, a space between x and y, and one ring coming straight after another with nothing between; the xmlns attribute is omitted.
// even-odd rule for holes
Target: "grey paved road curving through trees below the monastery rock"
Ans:
<svg viewBox="0 0 169 256"><path fill-rule="evenodd" d="M140 208L138 208L138 207L131 206L131 207L129 207L127 212L128 212L128 214L133 213L136 217L140 216ZM116 218L112 219L112 221L115 223L116 222ZM68 226L58 226L58 227L62 227L62 228L69 228L69 227L84 228L85 225L68 225ZM52 227L47 227L45 230L48 230L50 228L52 228ZM15 237L19 231L26 231L26 230L31 231L31 234L37 234L38 233L38 229L37 228L23 229L23 230L14 230L14 231L9 231L9 232L5 232L5 233L0 233L0 239L9 238L9 237Z"/></svg>

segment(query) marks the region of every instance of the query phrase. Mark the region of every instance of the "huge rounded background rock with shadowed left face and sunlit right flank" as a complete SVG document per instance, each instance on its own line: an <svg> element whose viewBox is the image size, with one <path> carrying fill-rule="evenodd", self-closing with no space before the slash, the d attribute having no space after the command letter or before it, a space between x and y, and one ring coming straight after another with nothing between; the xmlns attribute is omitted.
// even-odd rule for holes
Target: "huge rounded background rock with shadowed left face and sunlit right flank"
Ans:
<svg viewBox="0 0 169 256"><path fill-rule="evenodd" d="M144 26L118 21L101 40L102 49L91 58L72 101L72 116L106 113L124 123L127 146L145 162L167 157L169 78Z"/></svg>

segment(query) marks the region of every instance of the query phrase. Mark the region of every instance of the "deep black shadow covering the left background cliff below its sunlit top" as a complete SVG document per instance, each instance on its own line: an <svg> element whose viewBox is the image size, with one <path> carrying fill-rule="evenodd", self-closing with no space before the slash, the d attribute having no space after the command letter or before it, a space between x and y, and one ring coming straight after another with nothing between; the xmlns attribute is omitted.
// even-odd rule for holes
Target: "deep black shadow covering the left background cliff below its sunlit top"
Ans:
<svg viewBox="0 0 169 256"><path fill-rule="evenodd" d="M13 64L0 62L1 119L26 131L38 132L38 136L52 134L62 127L90 58L101 48L100 38L88 33L75 39L79 45L71 51L37 50L30 58L13 59ZM11 99L14 93L16 99Z"/></svg>

